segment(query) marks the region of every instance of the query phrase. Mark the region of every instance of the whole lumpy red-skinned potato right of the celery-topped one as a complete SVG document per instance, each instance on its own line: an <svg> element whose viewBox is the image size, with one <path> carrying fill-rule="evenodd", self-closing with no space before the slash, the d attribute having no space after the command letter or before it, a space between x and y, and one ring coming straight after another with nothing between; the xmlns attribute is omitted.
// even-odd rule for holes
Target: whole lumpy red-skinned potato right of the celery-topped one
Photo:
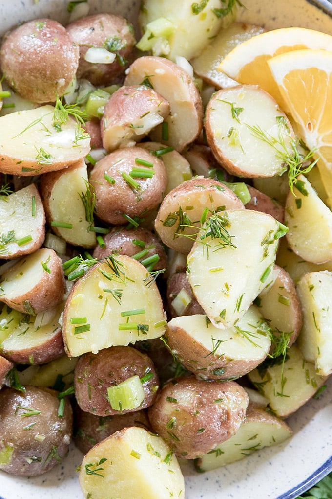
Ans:
<svg viewBox="0 0 332 499"><path fill-rule="evenodd" d="M179 458L195 459L230 438L242 423L249 397L234 381L176 378L149 408L153 430Z"/></svg>

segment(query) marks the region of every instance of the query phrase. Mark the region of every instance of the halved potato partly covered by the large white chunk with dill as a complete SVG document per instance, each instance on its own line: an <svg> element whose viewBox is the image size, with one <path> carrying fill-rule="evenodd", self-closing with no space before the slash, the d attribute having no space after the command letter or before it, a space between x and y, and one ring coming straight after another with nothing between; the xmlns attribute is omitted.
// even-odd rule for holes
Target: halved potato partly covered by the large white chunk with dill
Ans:
<svg viewBox="0 0 332 499"><path fill-rule="evenodd" d="M225 185L195 177L165 196L154 225L166 246L188 254L202 226L202 217L206 220L223 210L243 208L240 199Z"/></svg>

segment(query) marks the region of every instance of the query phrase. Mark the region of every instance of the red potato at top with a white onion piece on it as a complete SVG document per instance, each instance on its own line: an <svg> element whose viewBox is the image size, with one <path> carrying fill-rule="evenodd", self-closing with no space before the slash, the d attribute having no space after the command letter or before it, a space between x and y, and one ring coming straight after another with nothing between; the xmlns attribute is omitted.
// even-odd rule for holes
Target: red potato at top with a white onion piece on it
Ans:
<svg viewBox="0 0 332 499"><path fill-rule="evenodd" d="M127 19L114 14L93 14L71 22L67 31L80 51L78 78L86 78L93 85L108 85L124 72L135 44L133 27ZM115 59L111 63L89 62L89 48L104 48L115 54Z"/></svg>

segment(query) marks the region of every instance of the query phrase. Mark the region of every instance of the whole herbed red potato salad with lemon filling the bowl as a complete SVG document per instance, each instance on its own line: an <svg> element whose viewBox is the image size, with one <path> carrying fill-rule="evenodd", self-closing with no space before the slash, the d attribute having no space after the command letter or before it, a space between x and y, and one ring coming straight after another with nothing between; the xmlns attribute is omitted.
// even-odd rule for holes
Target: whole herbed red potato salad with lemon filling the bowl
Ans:
<svg viewBox="0 0 332 499"><path fill-rule="evenodd" d="M279 73L332 36L240 7L80 0L3 35L0 473L75 445L87 499L184 499L185 461L280 444L324 392L332 145Z"/></svg>

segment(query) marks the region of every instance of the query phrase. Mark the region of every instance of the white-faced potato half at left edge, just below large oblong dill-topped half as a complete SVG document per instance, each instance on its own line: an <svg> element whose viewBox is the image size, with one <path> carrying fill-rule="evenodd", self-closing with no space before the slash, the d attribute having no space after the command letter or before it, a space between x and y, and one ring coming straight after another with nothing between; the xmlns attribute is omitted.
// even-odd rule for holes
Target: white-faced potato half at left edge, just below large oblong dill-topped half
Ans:
<svg viewBox="0 0 332 499"><path fill-rule="evenodd" d="M15 258L37 250L45 238L45 212L34 184L0 203L0 257Z"/></svg>

